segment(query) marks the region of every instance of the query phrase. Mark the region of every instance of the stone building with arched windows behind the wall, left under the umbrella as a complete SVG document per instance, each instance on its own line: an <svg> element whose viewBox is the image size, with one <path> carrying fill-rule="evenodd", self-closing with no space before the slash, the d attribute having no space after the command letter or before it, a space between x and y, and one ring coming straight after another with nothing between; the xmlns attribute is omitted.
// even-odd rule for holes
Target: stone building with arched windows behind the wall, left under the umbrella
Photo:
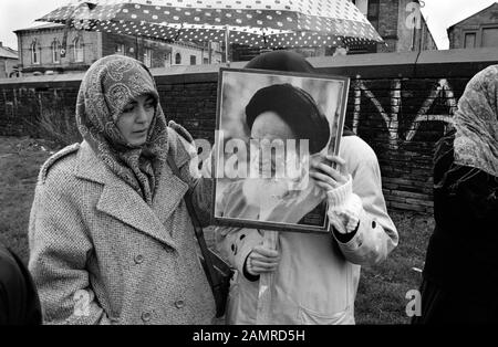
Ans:
<svg viewBox="0 0 498 347"><path fill-rule="evenodd" d="M23 75L81 72L111 54L135 57L151 69L221 62L216 43L209 46L191 42L166 43L141 36L66 29L61 24L21 29L15 34Z"/></svg>

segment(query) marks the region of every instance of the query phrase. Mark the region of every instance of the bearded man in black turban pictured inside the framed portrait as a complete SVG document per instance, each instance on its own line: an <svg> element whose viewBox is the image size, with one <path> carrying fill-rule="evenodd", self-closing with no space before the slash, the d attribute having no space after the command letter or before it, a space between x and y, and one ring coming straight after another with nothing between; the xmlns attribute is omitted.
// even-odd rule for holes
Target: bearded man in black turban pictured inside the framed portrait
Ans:
<svg viewBox="0 0 498 347"><path fill-rule="evenodd" d="M246 106L250 130L248 177L228 185L217 203L225 218L273 223L325 223L324 192L310 162L330 140L330 125L313 97L289 83L260 88Z"/></svg>

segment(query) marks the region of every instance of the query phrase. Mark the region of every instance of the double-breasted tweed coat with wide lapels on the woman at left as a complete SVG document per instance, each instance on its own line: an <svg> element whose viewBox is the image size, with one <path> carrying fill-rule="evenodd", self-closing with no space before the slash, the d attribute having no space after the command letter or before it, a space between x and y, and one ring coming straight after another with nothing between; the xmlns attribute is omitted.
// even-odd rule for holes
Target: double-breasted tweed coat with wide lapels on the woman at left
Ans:
<svg viewBox="0 0 498 347"><path fill-rule="evenodd" d="M215 302L183 200L208 220L211 182L189 175L184 140L168 155L152 208L86 141L42 167L30 215L29 269L46 324L211 324Z"/></svg>

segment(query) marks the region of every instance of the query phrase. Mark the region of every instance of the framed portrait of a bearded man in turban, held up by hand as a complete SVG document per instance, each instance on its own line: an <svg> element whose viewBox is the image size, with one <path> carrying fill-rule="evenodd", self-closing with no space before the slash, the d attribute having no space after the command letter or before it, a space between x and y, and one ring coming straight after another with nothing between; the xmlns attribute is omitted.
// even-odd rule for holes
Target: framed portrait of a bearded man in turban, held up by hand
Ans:
<svg viewBox="0 0 498 347"><path fill-rule="evenodd" d="M349 85L342 76L220 70L214 224L328 231L325 192L310 164L339 154Z"/></svg>

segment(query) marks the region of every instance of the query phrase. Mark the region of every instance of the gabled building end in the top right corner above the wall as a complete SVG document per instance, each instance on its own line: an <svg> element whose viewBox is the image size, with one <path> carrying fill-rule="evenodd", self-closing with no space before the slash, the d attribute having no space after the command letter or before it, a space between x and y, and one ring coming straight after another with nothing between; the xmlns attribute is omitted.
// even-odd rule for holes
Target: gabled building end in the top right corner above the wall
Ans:
<svg viewBox="0 0 498 347"><path fill-rule="evenodd" d="M447 30L449 49L498 46L498 2Z"/></svg>

